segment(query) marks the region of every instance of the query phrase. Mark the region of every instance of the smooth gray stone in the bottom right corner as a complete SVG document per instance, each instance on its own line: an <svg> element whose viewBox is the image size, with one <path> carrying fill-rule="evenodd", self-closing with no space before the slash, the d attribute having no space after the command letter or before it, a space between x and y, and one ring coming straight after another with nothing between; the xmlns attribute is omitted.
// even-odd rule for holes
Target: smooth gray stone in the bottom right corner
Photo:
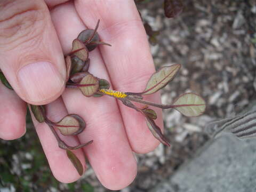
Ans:
<svg viewBox="0 0 256 192"><path fill-rule="evenodd" d="M151 192L252 192L255 177L256 139L241 141L225 134Z"/></svg>

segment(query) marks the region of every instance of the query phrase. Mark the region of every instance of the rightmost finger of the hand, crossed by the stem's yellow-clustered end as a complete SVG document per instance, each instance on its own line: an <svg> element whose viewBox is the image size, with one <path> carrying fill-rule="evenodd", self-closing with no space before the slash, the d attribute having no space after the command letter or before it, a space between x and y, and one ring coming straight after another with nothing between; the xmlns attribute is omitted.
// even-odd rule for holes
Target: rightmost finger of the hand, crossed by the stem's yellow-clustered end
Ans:
<svg viewBox="0 0 256 192"><path fill-rule="evenodd" d="M112 47L100 46L115 90L141 92L155 72L147 36L134 1L87 0L75 1L76 10L89 28L100 19L98 33ZM86 10L85 10L86 9ZM160 102L159 94L145 97ZM130 145L137 153L153 150L159 142L147 128L145 117L119 103ZM161 110L156 109L159 127L163 127Z"/></svg>

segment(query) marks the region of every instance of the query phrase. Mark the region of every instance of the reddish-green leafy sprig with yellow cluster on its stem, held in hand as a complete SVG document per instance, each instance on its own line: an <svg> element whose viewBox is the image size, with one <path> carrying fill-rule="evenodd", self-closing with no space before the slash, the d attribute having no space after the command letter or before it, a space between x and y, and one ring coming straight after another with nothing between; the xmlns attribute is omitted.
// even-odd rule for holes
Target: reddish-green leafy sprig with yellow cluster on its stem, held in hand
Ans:
<svg viewBox="0 0 256 192"><path fill-rule="evenodd" d="M89 52L94 50L98 45L111 46L108 43L100 41L99 34L97 33L98 27L99 21L94 30L83 30L78 37L74 39L71 52L65 56L67 70L66 87L81 90L85 97L102 97L103 95L107 95L122 101L125 106L137 110L145 117L147 126L156 139L164 145L170 146L169 141L164 137L161 129L154 121L157 119L156 112L148 106L162 109L174 108L185 116L195 117L204 113L204 99L195 93L185 93L180 95L180 97L170 105L162 105L143 100L143 95L153 94L163 89L165 85L172 81L175 75L177 75L181 65L165 66L157 70L156 73L151 75L145 90L142 92L133 93L110 90L110 84L106 79L95 77L88 72L90 67ZM4 85L9 87L9 89L11 88L1 71L0 79ZM142 103L145 106L140 108L134 103ZM93 140L71 147L60 139L56 130L59 130L62 135L77 135L83 132L86 127L83 118L76 114L69 114L63 117L59 122L52 122L47 118L47 111L44 106L30 105L30 109L39 123L45 122L50 127L54 137L58 141L59 147L66 150L68 158L73 163L77 172L82 175L84 172L82 163L71 150L89 145Z"/></svg>

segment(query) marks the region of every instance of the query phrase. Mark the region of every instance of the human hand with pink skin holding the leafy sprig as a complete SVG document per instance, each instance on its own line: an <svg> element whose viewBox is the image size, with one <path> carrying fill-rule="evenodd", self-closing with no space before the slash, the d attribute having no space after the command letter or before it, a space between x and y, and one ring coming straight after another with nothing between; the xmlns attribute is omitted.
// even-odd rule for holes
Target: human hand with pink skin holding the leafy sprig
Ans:
<svg viewBox="0 0 256 192"><path fill-rule="evenodd" d="M94 28L100 19L100 38L112 47L100 46L90 52L89 71L107 79L113 86L111 89L140 92L155 71L147 36L132 0L66 1L45 1L50 12L39 0L0 2L0 68L22 100L34 105L51 102L46 109L52 121L71 113L83 117L87 124L84 132L78 137L60 135L61 139L70 146L93 140L91 145L74 153L84 167L83 154L86 154L105 187L121 189L137 173L132 152L148 153L159 141L148 130L145 117L122 103L119 105L119 101L86 98L79 90L63 92L66 79L63 52L70 52L79 32ZM28 64L35 61L35 65ZM0 137L19 138L25 133L26 103L2 84L0 92L4 101L0 107ZM160 101L158 94L147 96L147 100ZM161 111L154 110L158 113L156 123L162 127ZM33 121L54 177L61 182L79 179L49 127Z"/></svg>

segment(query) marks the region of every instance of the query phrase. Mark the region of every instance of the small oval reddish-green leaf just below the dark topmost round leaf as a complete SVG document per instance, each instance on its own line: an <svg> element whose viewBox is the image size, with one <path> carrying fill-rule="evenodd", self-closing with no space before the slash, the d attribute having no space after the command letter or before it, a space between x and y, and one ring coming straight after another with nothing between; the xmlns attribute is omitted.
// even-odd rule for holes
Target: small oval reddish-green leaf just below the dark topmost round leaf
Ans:
<svg viewBox="0 0 256 192"><path fill-rule="evenodd" d="M83 61L86 61L89 55L86 46L79 39L74 39L71 53Z"/></svg>

